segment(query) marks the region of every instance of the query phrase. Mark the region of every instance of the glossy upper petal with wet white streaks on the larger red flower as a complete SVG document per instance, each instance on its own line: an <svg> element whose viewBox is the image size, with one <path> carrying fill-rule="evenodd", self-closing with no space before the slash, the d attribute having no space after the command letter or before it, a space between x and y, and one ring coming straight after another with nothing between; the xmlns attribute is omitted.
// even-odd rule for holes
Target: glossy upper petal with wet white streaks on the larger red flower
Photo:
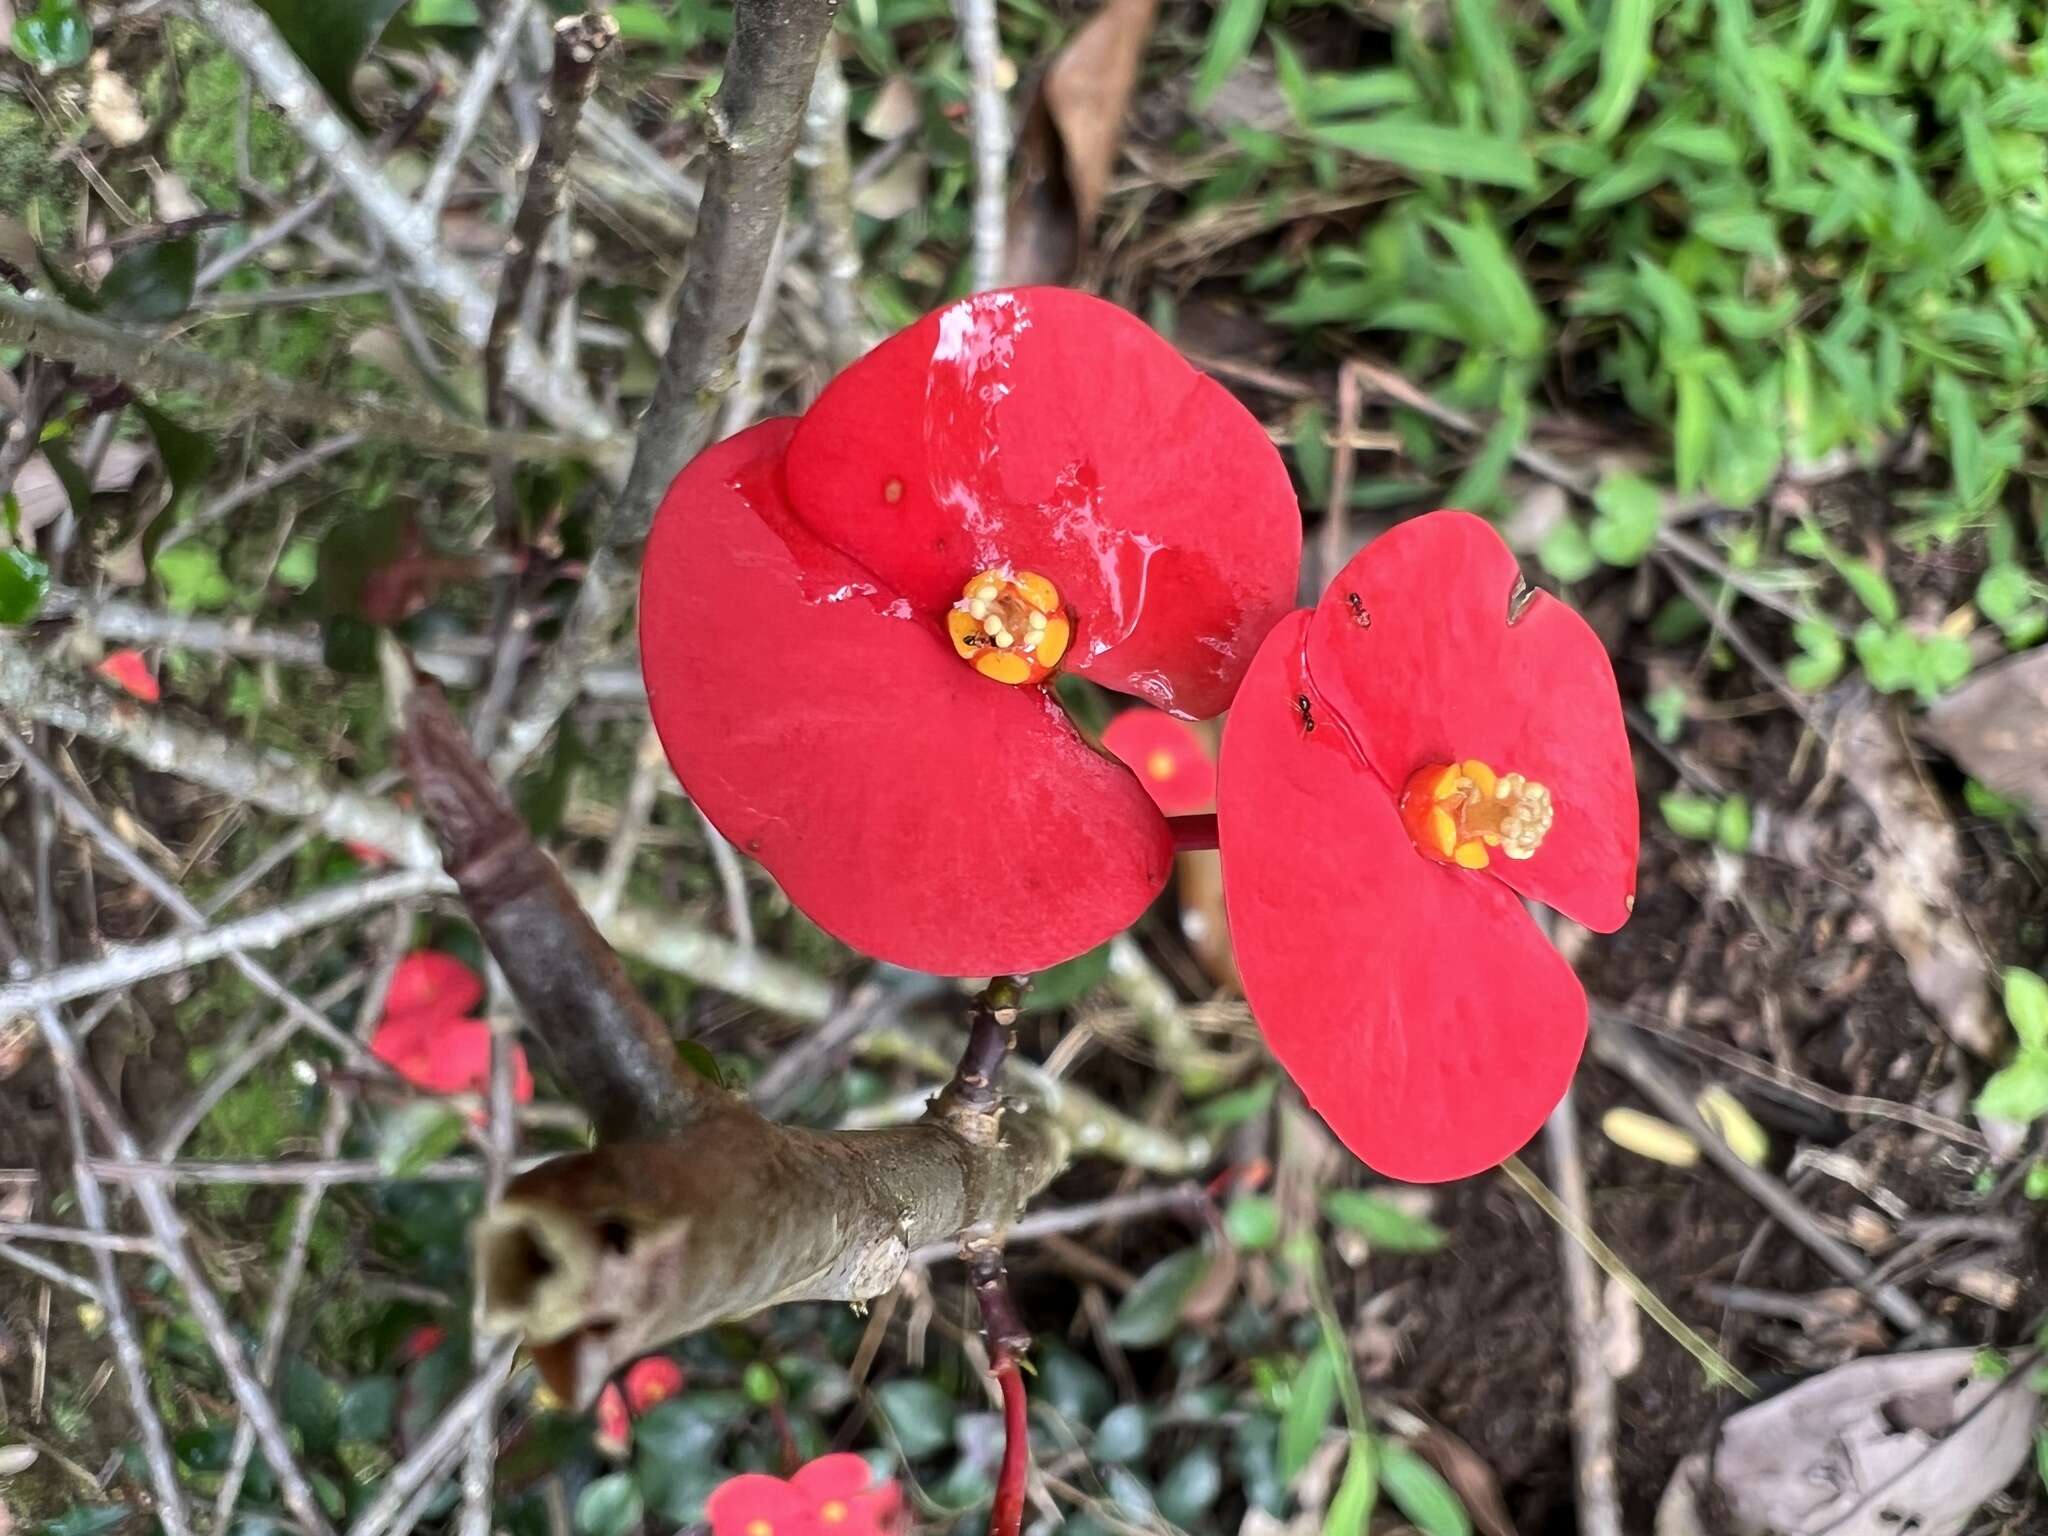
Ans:
<svg viewBox="0 0 2048 1536"><path fill-rule="evenodd" d="M987 567L1075 612L1067 668L1202 719L1294 602L1300 506L1257 420L1116 305L981 293L877 346L797 426L797 516L920 612Z"/></svg>

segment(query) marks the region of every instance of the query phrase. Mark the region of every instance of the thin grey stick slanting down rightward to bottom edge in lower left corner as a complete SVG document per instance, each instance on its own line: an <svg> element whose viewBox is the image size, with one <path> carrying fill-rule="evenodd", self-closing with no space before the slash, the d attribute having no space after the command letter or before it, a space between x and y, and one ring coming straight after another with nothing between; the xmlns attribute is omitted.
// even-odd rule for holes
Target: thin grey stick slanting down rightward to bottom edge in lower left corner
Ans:
<svg viewBox="0 0 2048 1536"><path fill-rule="evenodd" d="M16 983L16 987L23 983ZM33 985L27 983L27 985ZM6 1004L0 1004L6 1008ZM141 1161L141 1147L135 1145L133 1133L121 1122L119 1114L104 1102L92 1077L86 1073L86 1065L78 1055L78 1042L72 1040L70 1030L57 1018L49 1004L31 1004L35 1010L37 1024L43 1032L43 1042L49 1047L49 1055L57 1063L59 1075L76 1090L78 1102L92 1114L98 1124L100 1135L113 1151L113 1161L135 1167ZM96 1163L86 1157L86 1147L78 1147L80 1171L88 1176L98 1174ZM80 1186L84 1188L84 1184ZM299 1458L293 1454L291 1438L285 1434L283 1421L276 1417L276 1407L270 1403L270 1395L262 1389L262 1382L250 1372L248 1356L242 1352L242 1343L233 1335L233 1327L227 1321L227 1313L221 1309L219 1296L213 1294L213 1286L207 1284L205 1272L193 1260L186 1245L184 1219L178 1214L178 1206L164 1192L164 1186L156 1180L137 1180L133 1186L135 1202L141 1206L143 1219L150 1223L150 1231L158 1241L158 1257L164 1268L170 1270L172 1280L184 1290L184 1305L193 1311L193 1321L199 1323L199 1331L205 1335L207 1346L213 1350L215 1358L221 1362L221 1370L227 1374L227 1386L242 1407L242 1413L256 1430L256 1444L262 1446L264 1460L270 1462L270 1470L276 1477L279 1491L285 1499L285 1507L299 1520L299 1524L311 1536L328 1536L328 1518L319 1511L319 1501L313 1497L313 1485L307 1483L305 1470L299 1466ZM102 1278L102 1288L113 1290L113 1280ZM111 1296L109 1296L111 1300Z"/></svg>

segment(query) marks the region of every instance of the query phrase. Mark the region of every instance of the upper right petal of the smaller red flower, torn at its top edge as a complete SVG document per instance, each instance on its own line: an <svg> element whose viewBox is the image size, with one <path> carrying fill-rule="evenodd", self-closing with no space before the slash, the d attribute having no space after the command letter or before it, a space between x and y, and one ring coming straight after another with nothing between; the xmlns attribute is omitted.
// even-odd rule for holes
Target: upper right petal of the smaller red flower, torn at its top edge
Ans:
<svg viewBox="0 0 2048 1536"><path fill-rule="evenodd" d="M1548 786L1542 846L1489 872L1604 934L1628 922L1640 823L1614 666L1577 612L1522 588L1491 524L1432 512L1382 532L1323 592L1307 655L1397 795L1473 758Z"/></svg>

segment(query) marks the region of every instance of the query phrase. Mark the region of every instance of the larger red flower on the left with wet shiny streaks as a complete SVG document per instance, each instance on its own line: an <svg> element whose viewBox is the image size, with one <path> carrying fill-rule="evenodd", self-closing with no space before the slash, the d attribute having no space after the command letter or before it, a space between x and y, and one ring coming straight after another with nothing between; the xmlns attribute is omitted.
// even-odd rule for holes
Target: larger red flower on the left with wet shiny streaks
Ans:
<svg viewBox="0 0 2048 1536"><path fill-rule="evenodd" d="M647 694L692 799L819 926L920 971L1034 971L1171 868L1049 670L1214 715L1298 553L1286 469L1225 389L1098 299L983 293L676 477Z"/></svg>

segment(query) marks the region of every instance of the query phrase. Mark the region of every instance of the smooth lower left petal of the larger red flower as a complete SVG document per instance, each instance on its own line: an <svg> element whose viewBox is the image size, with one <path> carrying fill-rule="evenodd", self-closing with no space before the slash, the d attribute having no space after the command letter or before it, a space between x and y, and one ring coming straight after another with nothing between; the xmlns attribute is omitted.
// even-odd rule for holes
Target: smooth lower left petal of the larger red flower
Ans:
<svg viewBox="0 0 2048 1536"><path fill-rule="evenodd" d="M1163 817L1044 690L963 666L936 614L797 520L795 430L702 453L655 516L641 664L678 778L877 958L1038 971L1122 932L1171 868Z"/></svg>

